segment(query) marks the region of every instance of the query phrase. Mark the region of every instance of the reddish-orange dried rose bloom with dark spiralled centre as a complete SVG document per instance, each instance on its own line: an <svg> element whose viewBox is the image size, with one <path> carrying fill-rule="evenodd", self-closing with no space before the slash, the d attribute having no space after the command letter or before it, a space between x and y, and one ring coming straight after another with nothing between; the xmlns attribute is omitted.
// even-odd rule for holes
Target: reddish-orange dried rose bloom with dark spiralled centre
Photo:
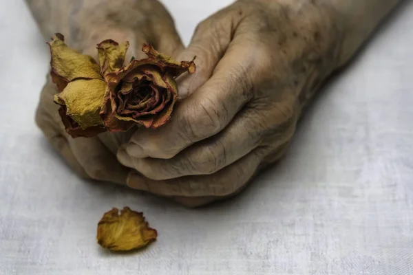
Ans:
<svg viewBox="0 0 413 275"><path fill-rule="evenodd" d="M105 43L105 49L116 47ZM109 131L123 131L136 123L147 128L165 124L178 99L175 78L184 72L195 72L193 61L178 63L151 45L144 45L142 51L148 58L105 74L109 89L100 115Z"/></svg>

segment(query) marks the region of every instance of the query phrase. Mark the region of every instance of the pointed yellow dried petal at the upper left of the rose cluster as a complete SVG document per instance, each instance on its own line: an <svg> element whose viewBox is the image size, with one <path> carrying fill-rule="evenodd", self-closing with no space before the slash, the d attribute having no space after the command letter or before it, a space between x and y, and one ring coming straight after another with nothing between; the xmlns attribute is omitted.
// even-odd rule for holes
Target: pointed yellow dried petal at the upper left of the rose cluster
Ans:
<svg viewBox="0 0 413 275"><path fill-rule="evenodd" d="M52 55L50 65L54 83L69 83L76 78L103 79L99 65L92 56L71 49L63 40L62 34L56 34L52 41L47 43Z"/></svg>

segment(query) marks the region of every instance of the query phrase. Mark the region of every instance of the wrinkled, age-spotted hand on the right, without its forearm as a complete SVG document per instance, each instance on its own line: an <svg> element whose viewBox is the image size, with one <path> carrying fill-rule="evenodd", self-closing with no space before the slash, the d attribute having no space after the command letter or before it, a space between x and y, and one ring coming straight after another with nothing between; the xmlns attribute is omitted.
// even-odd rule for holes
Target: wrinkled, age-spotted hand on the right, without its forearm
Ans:
<svg viewBox="0 0 413 275"><path fill-rule="evenodd" d="M337 65L334 14L316 1L245 0L198 25L187 94L160 129L139 129L118 159L127 184L189 205L233 195L284 154L301 110ZM199 198L202 198L201 200Z"/></svg>

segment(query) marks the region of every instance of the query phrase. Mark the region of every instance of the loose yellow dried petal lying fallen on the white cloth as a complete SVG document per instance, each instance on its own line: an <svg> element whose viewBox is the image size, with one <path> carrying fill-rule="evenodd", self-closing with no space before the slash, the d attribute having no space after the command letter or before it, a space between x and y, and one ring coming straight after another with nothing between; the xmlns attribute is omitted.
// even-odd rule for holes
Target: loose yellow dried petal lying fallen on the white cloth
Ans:
<svg viewBox="0 0 413 275"><path fill-rule="evenodd" d="M98 223L98 243L109 250L128 251L144 248L158 236L149 228L141 212L129 207L120 211L113 208L106 212Z"/></svg>

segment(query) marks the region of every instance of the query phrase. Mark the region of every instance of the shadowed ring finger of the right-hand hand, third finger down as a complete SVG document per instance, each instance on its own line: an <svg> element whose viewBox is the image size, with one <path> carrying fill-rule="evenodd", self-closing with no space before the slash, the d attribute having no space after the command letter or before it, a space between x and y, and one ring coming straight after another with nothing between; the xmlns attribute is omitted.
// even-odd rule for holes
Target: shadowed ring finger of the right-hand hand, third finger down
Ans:
<svg viewBox="0 0 413 275"><path fill-rule="evenodd" d="M264 150L257 148L237 162L212 175L198 175L156 181L131 172L127 185L162 196L224 197L242 188L261 162Z"/></svg>

